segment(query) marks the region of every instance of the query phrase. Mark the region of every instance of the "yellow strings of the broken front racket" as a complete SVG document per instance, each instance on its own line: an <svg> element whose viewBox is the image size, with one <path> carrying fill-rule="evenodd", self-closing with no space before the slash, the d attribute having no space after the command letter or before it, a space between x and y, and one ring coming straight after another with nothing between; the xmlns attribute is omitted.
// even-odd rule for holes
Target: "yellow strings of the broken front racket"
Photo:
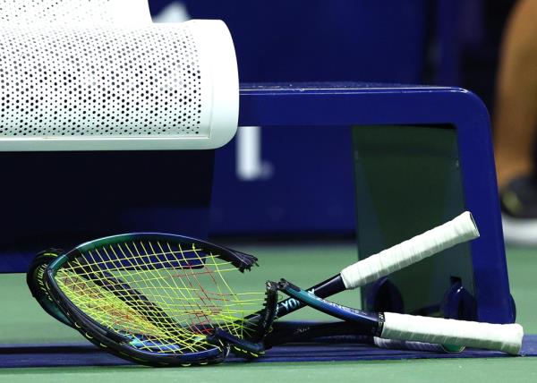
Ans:
<svg viewBox="0 0 537 383"><path fill-rule="evenodd" d="M137 339L138 348L184 353L214 347L205 336L216 327L242 338L254 331L246 317L264 294L235 293L225 278L231 271L195 244L140 241L86 251L56 280L81 311Z"/></svg>

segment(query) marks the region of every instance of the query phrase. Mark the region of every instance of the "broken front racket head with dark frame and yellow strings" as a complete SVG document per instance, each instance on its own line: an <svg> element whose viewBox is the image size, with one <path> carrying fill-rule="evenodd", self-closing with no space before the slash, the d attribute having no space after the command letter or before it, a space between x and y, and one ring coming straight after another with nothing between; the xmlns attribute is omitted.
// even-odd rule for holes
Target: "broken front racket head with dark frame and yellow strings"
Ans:
<svg viewBox="0 0 537 383"><path fill-rule="evenodd" d="M266 307L266 294L237 294L226 281L255 265L251 255L191 237L121 234L58 256L45 281L95 345L146 365L206 364L229 353L226 341L209 337L217 328L254 341L265 331L245 318Z"/></svg>

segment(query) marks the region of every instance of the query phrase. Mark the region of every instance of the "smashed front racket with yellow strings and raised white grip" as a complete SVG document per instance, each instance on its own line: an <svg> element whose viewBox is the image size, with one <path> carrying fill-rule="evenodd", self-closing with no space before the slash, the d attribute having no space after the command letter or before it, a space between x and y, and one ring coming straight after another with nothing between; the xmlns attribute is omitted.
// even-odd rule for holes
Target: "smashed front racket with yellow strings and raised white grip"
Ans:
<svg viewBox="0 0 537 383"><path fill-rule="evenodd" d="M310 291L328 297L476 236L466 212L345 268ZM276 305L275 284L268 284L265 293L236 293L228 277L249 270L255 261L188 237L126 234L57 256L44 278L60 311L94 344L143 364L201 364L222 361L230 347L243 355L262 353L275 311L281 318L303 306L294 298Z"/></svg>

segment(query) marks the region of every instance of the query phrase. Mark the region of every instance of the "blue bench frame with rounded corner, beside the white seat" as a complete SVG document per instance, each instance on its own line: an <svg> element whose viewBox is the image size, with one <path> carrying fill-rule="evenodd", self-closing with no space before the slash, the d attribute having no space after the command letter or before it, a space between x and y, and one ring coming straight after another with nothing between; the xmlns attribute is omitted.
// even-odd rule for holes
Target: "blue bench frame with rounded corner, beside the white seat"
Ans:
<svg viewBox="0 0 537 383"><path fill-rule="evenodd" d="M450 124L456 128L466 208L481 237L472 243L478 318L510 323L515 308L487 108L460 88L374 83L243 84L239 124L263 127Z"/></svg>

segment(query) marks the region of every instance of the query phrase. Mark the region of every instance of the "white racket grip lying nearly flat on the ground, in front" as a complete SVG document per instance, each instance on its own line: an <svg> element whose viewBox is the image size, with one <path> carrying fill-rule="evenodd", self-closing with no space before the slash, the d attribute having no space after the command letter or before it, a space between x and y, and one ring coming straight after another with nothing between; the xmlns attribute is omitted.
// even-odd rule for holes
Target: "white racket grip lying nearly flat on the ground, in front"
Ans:
<svg viewBox="0 0 537 383"><path fill-rule="evenodd" d="M465 345L517 354L524 329L519 324L494 325L456 319L385 312L382 337L439 345Z"/></svg>

